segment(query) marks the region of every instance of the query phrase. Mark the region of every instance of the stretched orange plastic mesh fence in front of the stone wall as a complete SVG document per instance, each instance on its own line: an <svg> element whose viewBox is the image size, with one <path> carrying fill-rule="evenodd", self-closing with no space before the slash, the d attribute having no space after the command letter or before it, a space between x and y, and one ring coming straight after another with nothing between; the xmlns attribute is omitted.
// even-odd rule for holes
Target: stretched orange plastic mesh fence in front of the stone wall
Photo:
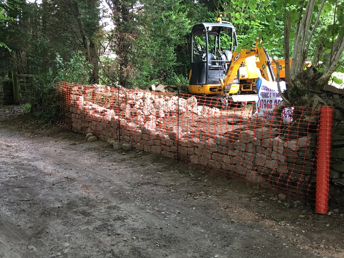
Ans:
<svg viewBox="0 0 344 258"><path fill-rule="evenodd" d="M293 107L292 121L283 122L283 107L268 120L253 115L253 103L223 108L221 98L65 82L58 90L62 124L74 131L315 199L319 114L312 108Z"/></svg>

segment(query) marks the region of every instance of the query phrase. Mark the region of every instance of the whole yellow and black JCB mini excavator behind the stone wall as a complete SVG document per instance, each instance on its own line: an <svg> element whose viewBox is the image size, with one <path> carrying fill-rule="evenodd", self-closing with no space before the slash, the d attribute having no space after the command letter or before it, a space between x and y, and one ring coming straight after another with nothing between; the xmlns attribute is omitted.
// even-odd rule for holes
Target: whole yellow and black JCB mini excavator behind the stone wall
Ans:
<svg viewBox="0 0 344 258"><path fill-rule="evenodd" d="M259 47L260 41L251 49L234 51L238 45L235 27L221 17L220 14L216 23L197 23L192 28L189 92L205 105L216 101L226 106L228 99L253 101L256 93L238 93L253 93L258 77L275 81L270 57L264 47ZM262 73L256 65L256 56Z"/></svg>

